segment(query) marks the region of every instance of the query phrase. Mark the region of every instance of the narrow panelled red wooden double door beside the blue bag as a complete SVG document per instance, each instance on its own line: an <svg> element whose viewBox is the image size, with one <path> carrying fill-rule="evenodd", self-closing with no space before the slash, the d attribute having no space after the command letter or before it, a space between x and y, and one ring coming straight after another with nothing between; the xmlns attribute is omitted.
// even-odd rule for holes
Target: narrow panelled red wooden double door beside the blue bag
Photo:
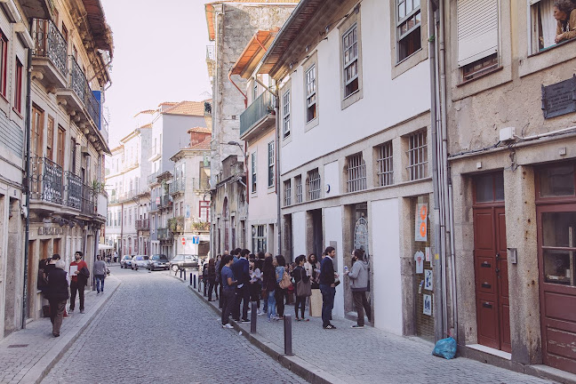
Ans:
<svg viewBox="0 0 576 384"><path fill-rule="evenodd" d="M474 209L478 343L511 351L504 207Z"/></svg>

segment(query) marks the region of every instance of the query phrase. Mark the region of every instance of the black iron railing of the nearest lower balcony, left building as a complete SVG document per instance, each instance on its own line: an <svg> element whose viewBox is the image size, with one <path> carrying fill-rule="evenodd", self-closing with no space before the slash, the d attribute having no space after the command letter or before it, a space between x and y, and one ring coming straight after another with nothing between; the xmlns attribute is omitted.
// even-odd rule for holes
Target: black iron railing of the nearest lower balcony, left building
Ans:
<svg viewBox="0 0 576 384"><path fill-rule="evenodd" d="M64 197L63 172L60 165L46 157L30 158L30 197L48 203L62 204Z"/></svg>

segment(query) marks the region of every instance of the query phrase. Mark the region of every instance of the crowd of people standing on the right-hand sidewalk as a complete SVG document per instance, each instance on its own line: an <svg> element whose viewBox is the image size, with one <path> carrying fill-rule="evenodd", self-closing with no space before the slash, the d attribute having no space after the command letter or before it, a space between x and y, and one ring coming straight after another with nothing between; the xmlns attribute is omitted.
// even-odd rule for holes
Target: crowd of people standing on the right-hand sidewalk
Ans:
<svg viewBox="0 0 576 384"><path fill-rule="evenodd" d="M250 323L249 303L257 303L258 315L267 315L273 322L284 318L284 306L295 295L294 315L296 321L308 321L306 317L307 299L314 292L322 294L322 320L324 329L336 329L331 323L336 286L340 276L336 273L333 258L336 251L327 247L322 260L316 254L308 258L300 255L293 263L286 263L283 255L273 257L269 252L252 254L247 249L237 248L224 252L204 265L204 295L212 301L212 293L219 300L221 324L232 328L229 317L239 323ZM364 261L364 251L355 250L352 255L352 268L345 275L350 279L358 320L353 328L364 327L364 311L371 319L370 305L365 292L369 290L368 263ZM316 291L315 291L316 290ZM293 293L292 293L293 292ZM260 302L263 303L260 310Z"/></svg>

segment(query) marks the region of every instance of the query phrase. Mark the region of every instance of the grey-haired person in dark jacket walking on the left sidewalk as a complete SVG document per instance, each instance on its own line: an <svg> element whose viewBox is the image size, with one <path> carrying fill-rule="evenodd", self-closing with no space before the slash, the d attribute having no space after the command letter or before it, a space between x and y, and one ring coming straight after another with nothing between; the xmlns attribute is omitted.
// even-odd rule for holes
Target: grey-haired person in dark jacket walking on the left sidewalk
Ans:
<svg viewBox="0 0 576 384"><path fill-rule="evenodd" d="M50 321L52 322L52 335L54 337L60 336L60 326L62 325L62 317L66 310L66 302L68 301L68 280L66 278L66 263L63 260L56 261L54 268L48 274L47 293L50 302Z"/></svg>

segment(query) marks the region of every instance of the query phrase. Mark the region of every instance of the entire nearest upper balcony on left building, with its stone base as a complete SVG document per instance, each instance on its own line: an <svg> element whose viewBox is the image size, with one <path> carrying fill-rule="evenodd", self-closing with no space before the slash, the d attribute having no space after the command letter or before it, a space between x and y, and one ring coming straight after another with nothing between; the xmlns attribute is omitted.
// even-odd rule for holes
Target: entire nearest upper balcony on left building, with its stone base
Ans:
<svg viewBox="0 0 576 384"><path fill-rule="evenodd" d="M46 88L66 88L68 85L68 52L64 36L51 20L35 19L32 23L35 41L32 66L36 81Z"/></svg>

